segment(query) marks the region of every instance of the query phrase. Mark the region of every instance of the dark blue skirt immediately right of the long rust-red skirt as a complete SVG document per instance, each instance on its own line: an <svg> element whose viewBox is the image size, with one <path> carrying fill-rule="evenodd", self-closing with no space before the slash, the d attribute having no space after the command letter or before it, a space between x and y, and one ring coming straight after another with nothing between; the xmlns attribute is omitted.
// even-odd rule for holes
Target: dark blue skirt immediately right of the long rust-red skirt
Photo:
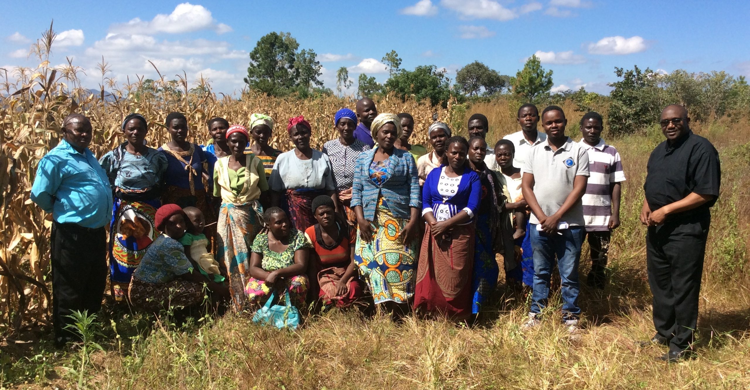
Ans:
<svg viewBox="0 0 750 390"><path fill-rule="evenodd" d="M497 277L500 272L495 258L489 220L490 214L479 214L476 220L474 269L471 281L472 314L481 311L482 306L497 286Z"/></svg>

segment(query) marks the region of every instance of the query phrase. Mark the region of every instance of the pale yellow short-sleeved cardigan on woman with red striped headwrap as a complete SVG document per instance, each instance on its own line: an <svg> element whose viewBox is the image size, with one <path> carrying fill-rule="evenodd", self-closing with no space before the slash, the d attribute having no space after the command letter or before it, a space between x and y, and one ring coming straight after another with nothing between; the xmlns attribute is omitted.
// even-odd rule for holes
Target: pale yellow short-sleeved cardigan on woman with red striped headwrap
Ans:
<svg viewBox="0 0 750 390"><path fill-rule="evenodd" d="M260 197L261 191L269 190L263 162L255 154L246 154L245 185L237 193L230 187L229 157L221 157L214 165L214 195L220 195L221 201L242 205Z"/></svg>

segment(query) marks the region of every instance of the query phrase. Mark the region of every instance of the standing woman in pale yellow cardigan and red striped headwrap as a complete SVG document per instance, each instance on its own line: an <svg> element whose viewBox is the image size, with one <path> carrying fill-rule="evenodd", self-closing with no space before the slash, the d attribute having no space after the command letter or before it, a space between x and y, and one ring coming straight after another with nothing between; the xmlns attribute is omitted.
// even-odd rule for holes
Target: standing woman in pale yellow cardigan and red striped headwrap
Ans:
<svg viewBox="0 0 750 390"><path fill-rule="evenodd" d="M269 184L263 162L255 154L245 154L248 129L235 124L226 130L229 156L214 166L214 196L221 198L217 225L217 260L229 276L234 307L242 310L247 302L245 284L250 278L250 248L263 227L263 204Z"/></svg>

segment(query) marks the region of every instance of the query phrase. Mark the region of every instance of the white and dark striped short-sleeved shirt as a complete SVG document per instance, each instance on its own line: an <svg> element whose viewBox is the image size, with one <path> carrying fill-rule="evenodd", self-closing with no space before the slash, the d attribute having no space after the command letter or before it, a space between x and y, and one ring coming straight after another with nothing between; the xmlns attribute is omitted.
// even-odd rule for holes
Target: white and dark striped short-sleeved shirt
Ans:
<svg viewBox="0 0 750 390"><path fill-rule="evenodd" d="M622 162L614 146L604 144L599 139L595 146L580 140L580 145L589 154L589 181L586 193L581 198L583 202L583 220L586 221L586 231L609 230L609 220L612 215L611 183L625 181Z"/></svg>

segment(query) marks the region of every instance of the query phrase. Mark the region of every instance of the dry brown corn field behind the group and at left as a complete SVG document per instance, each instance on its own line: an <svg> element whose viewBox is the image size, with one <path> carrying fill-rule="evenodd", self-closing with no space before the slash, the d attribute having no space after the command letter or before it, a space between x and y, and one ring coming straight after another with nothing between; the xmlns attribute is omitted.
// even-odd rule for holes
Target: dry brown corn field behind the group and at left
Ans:
<svg viewBox="0 0 750 390"><path fill-rule="evenodd" d="M92 121L94 135L89 148L101 157L121 141L120 124L128 113L148 119L148 145L167 142L164 119L172 111L184 113L193 142L205 144L210 138L206 121L221 116L230 124L248 124L252 113L275 118L272 145L281 150L293 147L285 132L287 119L305 115L313 126L313 145L338 137L334 114L341 107L354 108L350 98L323 97L302 101L297 98L268 98L242 92L242 98L214 94L208 80L191 83L184 77L148 83L118 84L107 77L110 66L101 63L99 93L83 89L79 74L83 69L68 62L63 68L49 65L52 31L45 33L33 52L40 60L36 69L0 69L0 321L18 332L25 323L49 323L49 235L51 216L29 200L37 163L59 142L62 120L70 113L83 113ZM158 71L158 70L157 70ZM129 81L129 80L128 80ZM107 92L105 92L105 89ZM111 94L111 95L110 95ZM443 121L463 121L451 113L462 110L430 107L415 101L404 102L387 96L377 101L381 113L412 113L416 129L426 129L434 114ZM414 142L425 143L425 131L417 130Z"/></svg>

